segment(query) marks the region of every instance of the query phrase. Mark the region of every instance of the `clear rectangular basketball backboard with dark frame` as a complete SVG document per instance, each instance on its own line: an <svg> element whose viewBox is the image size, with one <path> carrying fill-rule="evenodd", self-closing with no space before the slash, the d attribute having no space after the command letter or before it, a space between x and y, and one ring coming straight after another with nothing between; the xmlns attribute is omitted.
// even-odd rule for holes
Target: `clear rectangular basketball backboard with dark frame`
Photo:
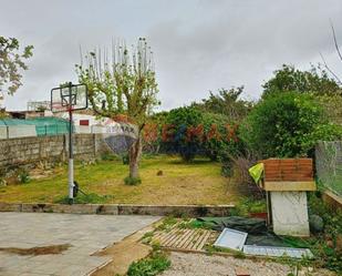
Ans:
<svg viewBox="0 0 342 276"><path fill-rule="evenodd" d="M51 90L52 112L85 109L87 109L87 88L85 84L69 84Z"/></svg>

